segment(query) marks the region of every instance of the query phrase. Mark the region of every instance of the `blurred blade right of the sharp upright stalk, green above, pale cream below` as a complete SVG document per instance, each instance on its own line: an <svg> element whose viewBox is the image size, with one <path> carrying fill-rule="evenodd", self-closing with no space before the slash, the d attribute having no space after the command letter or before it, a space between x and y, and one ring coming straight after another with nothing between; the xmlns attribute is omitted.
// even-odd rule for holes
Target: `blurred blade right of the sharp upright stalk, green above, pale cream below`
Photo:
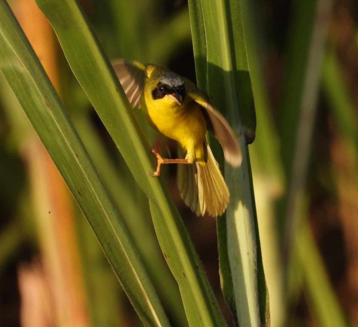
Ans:
<svg viewBox="0 0 358 327"><path fill-rule="evenodd" d="M242 1L241 4L255 111L259 117L255 142L250 145L250 161L255 185L265 280L268 288L267 293L270 295L270 305L267 305L266 309L271 326L283 326L287 309L285 309L282 290L282 258L277 242L274 201L283 194L285 178L280 158L279 136L272 108L270 108L269 92L264 76L263 56L265 56L265 52L261 51L262 44L260 42L262 35L255 28L257 25L256 7L250 1ZM262 300L263 297L260 296L260 302ZM267 295L268 300L269 296ZM262 317L261 304L260 311Z"/></svg>

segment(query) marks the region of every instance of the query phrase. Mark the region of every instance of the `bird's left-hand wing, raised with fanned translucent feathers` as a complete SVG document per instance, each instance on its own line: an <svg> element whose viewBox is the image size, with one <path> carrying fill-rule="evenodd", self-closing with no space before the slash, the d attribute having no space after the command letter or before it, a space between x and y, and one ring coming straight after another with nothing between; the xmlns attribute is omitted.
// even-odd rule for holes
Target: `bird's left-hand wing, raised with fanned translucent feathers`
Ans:
<svg viewBox="0 0 358 327"><path fill-rule="evenodd" d="M144 86L145 66L136 61L118 59L112 62L126 96L133 107L140 108L140 95Z"/></svg>

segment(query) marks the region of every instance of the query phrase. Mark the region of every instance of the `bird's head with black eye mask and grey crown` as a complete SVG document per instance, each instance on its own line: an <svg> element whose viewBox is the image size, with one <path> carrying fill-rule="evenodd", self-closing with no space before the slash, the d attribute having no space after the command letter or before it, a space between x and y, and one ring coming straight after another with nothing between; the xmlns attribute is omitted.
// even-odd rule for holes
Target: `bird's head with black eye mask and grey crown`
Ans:
<svg viewBox="0 0 358 327"><path fill-rule="evenodd" d="M153 69L148 75L153 100L170 106L182 105L185 99L185 82L183 79L164 69Z"/></svg>

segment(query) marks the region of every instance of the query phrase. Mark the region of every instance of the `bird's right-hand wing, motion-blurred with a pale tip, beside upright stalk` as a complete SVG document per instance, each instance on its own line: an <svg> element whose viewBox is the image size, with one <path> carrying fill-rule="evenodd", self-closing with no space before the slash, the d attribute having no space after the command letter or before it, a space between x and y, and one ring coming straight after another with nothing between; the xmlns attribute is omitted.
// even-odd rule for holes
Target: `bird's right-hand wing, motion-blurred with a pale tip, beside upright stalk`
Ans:
<svg viewBox="0 0 358 327"><path fill-rule="evenodd" d="M234 167L240 166L242 161L240 146L226 119L214 108L209 97L193 82L185 79L185 89L187 95L202 106L208 130L220 142L225 160Z"/></svg>

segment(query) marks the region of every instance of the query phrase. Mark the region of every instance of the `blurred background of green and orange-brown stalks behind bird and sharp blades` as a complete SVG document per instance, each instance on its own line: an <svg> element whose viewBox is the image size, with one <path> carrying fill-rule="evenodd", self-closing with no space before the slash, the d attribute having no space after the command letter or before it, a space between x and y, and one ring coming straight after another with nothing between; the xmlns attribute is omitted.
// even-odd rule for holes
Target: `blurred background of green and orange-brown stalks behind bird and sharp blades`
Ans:
<svg viewBox="0 0 358 327"><path fill-rule="evenodd" d="M171 323L186 326L143 192L34 1L8 2L126 219ZM187 1L80 3L111 60L156 63L195 81ZM248 149L271 326L358 326L358 3L241 5L257 115ZM181 202L174 166L163 176L233 326L219 285L216 223ZM0 326L141 326L3 76Z"/></svg>

